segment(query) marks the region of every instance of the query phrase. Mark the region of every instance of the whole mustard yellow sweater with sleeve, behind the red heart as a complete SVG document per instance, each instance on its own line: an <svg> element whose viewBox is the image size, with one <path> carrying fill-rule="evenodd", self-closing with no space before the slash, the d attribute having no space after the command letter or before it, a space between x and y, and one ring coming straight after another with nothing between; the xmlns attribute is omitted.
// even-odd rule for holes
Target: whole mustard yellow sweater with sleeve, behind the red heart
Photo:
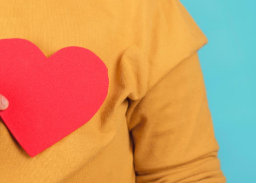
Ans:
<svg viewBox="0 0 256 183"><path fill-rule="evenodd" d="M28 39L47 57L67 46L90 49L109 76L95 116L34 158L0 121L1 183L226 182L197 53L208 40L181 2L0 6L0 39Z"/></svg>

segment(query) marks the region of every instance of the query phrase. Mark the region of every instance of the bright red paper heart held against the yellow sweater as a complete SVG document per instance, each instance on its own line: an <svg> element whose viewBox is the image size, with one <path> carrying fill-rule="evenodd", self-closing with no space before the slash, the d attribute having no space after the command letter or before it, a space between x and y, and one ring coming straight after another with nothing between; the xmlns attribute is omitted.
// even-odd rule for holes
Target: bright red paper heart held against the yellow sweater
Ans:
<svg viewBox="0 0 256 183"><path fill-rule="evenodd" d="M9 101L0 116L31 157L87 123L108 84L108 69L91 50L69 46L47 58L28 40L0 40L0 94Z"/></svg>

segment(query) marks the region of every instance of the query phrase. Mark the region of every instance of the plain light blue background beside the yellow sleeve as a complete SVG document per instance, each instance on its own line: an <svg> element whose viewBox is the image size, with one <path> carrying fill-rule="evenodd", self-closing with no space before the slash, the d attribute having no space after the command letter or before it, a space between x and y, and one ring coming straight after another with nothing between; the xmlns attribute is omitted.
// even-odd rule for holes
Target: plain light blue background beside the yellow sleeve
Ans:
<svg viewBox="0 0 256 183"><path fill-rule="evenodd" d="M198 53L228 183L256 182L256 1L181 0L208 38Z"/></svg>

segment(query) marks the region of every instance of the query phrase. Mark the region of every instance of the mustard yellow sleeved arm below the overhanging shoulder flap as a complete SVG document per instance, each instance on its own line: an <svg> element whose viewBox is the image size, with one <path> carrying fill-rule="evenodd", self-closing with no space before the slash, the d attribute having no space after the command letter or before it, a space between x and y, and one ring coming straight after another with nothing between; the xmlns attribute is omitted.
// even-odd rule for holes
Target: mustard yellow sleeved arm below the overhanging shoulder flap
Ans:
<svg viewBox="0 0 256 183"><path fill-rule="evenodd" d="M138 183L226 181L197 52L129 103Z"/></svg>

